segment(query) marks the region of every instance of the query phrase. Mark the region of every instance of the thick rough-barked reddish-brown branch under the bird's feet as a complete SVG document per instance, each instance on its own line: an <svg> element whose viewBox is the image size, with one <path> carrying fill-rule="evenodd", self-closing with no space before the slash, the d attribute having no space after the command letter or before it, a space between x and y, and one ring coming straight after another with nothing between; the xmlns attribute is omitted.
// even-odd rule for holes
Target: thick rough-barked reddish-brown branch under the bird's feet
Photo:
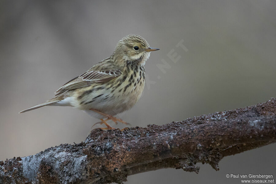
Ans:
<svg viewBox="0 0 276 184"><path fill-rule="evenodd" d="M228 155L276 141L276 99L241 109L171 122L103 131L84 142L61 144L24 158L0 161L0 183L121 183L128 175L162 168L198 173L197 162L218 163Z"/></svg>

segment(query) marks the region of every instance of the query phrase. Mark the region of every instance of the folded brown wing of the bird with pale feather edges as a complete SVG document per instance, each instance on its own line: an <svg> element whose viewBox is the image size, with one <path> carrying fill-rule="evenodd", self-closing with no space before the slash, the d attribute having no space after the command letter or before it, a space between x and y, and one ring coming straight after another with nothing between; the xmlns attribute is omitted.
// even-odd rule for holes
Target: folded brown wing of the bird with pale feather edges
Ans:
<svg viewBox="0 0 276 184"><path fill-rule="evenodd" d="M102 70L102 71L93 71L90 69L85 73L83 73L82 75L75 77L71 81L61 86L55 92L55 96L60 95L67 90L74 90L84 86L89 86L96 82L106 82L116 77L119 77L121 74L122 73L120 70L115 70L115 69Z"/></svg>

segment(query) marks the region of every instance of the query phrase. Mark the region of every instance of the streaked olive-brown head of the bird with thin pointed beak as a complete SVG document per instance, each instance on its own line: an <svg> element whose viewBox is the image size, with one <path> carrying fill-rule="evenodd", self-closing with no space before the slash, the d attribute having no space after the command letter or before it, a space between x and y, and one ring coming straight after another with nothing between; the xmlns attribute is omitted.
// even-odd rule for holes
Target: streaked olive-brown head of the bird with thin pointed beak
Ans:
<svg viewBox="0 0 276 184"><path fill-rule="evenodd" d="M157 50L159 48L151 48L142 36L130 34L118 42L112 56L115 62L120 63L120 65L125 65L127 62L145 64L150 52Z"/></svg>

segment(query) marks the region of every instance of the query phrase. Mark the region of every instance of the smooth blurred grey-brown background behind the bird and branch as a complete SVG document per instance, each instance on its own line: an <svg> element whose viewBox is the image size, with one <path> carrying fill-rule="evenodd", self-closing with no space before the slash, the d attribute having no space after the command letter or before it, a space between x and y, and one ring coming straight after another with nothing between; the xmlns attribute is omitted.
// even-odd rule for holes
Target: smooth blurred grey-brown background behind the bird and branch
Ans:
<svg viewBox="0 0 276 184"><path fill-rule="evenodd" d="M1 0L0 160L83 141L98 120L80 110L47 106L18 112L52 98L64 83L109 57L128 34L161 49L146 63L140 101L119 115L132 126L276 97L275 10L275 0ZM199 174L163 169L129 176L125 183L240 183L226 174L275 179L275 151L271 144L228 156L220 171L198 164Z"/></svg>

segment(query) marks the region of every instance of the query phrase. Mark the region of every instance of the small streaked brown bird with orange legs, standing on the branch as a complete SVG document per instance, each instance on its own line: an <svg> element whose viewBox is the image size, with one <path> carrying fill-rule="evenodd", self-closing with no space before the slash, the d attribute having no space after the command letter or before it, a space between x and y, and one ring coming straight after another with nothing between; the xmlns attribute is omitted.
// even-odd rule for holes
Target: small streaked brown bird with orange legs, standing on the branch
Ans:
<svg viewBox="0 0 276 184"><path fill-rule="evenodd" d="M19 113L46 105L72 106L100 119L98 123L106 125L101 129L115 129L108 120L128 125L114 116L131 109L140 99L145 85L145 63L150 53L157 50L160 49L150 47L142 36L129 34L117 43L111 56L61 86L55 98Z"/></svg>

